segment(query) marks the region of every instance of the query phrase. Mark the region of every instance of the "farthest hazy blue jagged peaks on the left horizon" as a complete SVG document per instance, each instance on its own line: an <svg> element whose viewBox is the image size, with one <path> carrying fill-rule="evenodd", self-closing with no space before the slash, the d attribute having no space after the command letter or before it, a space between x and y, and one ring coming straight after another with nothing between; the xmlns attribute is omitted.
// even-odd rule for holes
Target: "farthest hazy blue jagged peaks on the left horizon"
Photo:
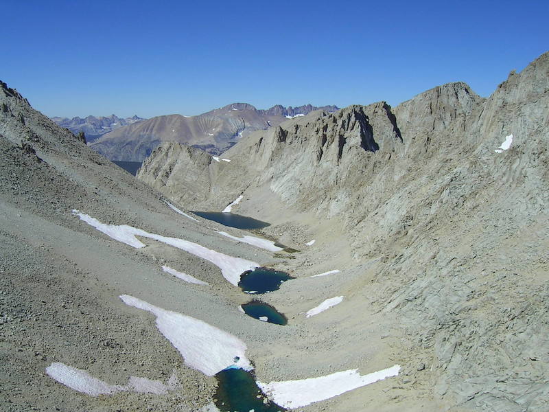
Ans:
<svg viewBox="0 0 549 412"><path fill-rule="evenodd" d="M117 128L145 120L137 116L121 119L117 115L110 115L106 117L73 117L72 119L69 119L69 117L51 117L51 119L59 126L68 128L74 134L78 134L80 131L83 131L86 135L86 141L88 142L94 141L95 139L102 137L102 135L112 132Z"/></svg>

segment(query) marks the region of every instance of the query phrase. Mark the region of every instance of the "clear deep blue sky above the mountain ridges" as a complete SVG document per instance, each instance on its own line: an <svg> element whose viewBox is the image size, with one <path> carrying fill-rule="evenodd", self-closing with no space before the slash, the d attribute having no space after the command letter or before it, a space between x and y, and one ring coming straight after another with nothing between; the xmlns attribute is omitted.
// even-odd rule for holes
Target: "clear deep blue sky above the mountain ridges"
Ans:
<svg viewBox="0 0 549 412"><path fill-rule="evenodd" d="M49 116L487 96L549 50L549 1L1 0L0 80Z"/></svg>

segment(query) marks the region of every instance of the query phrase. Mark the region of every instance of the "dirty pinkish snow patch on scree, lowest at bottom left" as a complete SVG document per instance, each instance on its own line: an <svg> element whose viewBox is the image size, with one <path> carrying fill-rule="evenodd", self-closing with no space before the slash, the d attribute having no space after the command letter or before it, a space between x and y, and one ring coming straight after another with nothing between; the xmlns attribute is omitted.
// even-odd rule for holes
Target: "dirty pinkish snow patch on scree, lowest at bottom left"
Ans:
<svg viewBox="0 0 549 412"><path fill-rule="evenodd" d="M82 369L60 362L49 365L46 368L46 374L62 385L90 396L110 395L124 391L164 395L179 386L175 374L168 380L167 385L163 384L160 380L139 378L137 376L130 376L128 385L109 385L103 380L94 378Z"/></svg>

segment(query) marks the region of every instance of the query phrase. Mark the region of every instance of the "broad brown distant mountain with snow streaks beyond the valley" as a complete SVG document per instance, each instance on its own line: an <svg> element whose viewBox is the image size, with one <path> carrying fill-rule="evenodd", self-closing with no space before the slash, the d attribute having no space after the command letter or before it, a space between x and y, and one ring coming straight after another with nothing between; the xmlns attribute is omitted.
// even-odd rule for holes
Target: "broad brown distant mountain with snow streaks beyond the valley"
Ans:
<svg viewBox="0 0 549 412"><path fill-rule="evenodd" d="M115 128L95 141L88 141L91 141L93 150L115 161L143 161L163 141L176 141L211 155L220 155L244 135L316 110L335 112L338 107L310 104L284 107L277 104L260 110L251 104L233 103L197 116L165 115L139 119L128 126Z"/></svg>

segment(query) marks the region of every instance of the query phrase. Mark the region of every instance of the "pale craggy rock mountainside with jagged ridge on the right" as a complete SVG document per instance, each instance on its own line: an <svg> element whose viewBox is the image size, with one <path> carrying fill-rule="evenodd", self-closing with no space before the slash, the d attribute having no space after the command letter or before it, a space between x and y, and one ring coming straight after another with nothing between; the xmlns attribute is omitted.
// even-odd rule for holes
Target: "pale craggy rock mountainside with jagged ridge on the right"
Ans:
<svg viewBox="0 0 549 412"><path fill-rule="evenodd" d="M243 192L238 212L267 188L339 220L357 264L375 262L355 293L399 319L410 363L430 365L406 369L408 382L423 380L449 410L544 411L548 138L544 54L487 99L445 84L395 108L350 106L254 133L224 153L231 163L204 170L196 196L221 210Z"/></svg>

